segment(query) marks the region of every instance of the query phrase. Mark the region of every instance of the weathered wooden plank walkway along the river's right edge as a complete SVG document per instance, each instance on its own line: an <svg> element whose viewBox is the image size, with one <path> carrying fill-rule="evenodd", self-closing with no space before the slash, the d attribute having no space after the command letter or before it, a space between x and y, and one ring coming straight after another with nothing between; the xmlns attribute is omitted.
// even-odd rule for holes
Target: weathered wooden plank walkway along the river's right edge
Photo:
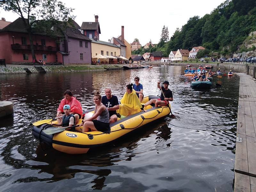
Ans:
<svg viewBox="0 0 256 192"><path fill-rule="evenodd" d="M236 74L240 76L240 87L234 192L256 192L256 79Z"/></svg>

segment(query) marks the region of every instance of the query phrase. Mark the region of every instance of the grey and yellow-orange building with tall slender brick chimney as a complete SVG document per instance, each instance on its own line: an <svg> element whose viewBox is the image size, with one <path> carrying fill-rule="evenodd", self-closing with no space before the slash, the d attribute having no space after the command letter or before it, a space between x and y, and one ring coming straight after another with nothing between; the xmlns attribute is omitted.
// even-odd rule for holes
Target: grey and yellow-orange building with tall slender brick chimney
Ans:
<svg viewBox="0 0 256 192"><path fill-rule="evenodd" d="M121 48L121 56L129 59L132 55L132 46L124 39L124 26L121 27L121 36L112 37L110 43L116 44Z"/></svg>

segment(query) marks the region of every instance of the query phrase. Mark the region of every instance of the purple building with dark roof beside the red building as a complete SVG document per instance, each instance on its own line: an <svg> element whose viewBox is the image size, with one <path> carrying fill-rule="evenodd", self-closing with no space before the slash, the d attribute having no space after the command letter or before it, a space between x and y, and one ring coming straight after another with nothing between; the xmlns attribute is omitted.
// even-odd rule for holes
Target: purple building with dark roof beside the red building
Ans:
<svg viewBox="0 0 256 192"><path fill-rule="evenodd" d="M60 53L64 65L81 65L92 63L91 39L78 29L68 27L64 32L65 40L60 42ZM79 27L80 28L80 27Z"/></svg>

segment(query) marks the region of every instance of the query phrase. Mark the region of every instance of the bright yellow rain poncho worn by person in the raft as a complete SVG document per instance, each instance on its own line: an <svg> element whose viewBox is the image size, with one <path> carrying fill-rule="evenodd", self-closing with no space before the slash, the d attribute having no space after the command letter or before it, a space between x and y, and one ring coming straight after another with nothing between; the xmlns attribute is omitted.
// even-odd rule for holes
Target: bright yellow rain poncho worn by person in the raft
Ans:
<svg viewBox="0 0 256 192"><path fill-rule="evenodd" d="M141 111L142 106L134 90L131 93L125 92L120 102L119 109L116 110L120 115L128 116Z"/></svg>

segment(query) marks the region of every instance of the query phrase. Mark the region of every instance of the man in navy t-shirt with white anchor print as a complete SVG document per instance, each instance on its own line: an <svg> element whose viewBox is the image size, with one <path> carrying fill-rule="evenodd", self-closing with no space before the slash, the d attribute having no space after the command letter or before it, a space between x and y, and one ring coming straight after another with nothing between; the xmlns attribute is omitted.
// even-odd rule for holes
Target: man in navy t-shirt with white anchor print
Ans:
<svg viewBox="0 0 256 192"><path fill-rule="evenodd" d="M116 109L119 109L118 99L115 95L112 95L111 89L105 89L105 96L101 98L101 103L105 105L109 113L109 123L113 123L117 120Z"/></svg>

